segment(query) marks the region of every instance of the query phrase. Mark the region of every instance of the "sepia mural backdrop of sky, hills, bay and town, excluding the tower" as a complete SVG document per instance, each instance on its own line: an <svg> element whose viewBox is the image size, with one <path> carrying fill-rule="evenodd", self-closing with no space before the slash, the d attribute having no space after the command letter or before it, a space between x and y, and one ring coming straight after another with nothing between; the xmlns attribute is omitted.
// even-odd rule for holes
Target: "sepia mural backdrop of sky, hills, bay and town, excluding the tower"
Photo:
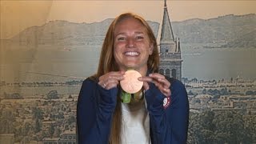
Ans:
<svg viewBox="0 0 256 144"><path fill-rule="evenodd" d="M82 81L107 27L142 15L160 39L164 1L1 1L0 143L76 143ZM255 1L167 1L190 100L187 143L256 142Z"/></svg>

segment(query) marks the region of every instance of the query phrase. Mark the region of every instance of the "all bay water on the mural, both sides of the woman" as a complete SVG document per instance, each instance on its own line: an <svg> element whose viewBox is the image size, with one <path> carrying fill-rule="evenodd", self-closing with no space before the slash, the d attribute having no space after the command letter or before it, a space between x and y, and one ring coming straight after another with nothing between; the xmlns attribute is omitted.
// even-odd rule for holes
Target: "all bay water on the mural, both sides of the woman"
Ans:
<svg viewBox="0 0 256 144"><path fill-rule="evenodd" d="M1 81L65 82L72 79L68 76L86 78L96 72L100 46L45 46L31 54L26 54L26 50L12 53L25 56L9 54L3 58ZM182 59L183 78L256 78L256 49L195 49L184 45Z"/></svg>

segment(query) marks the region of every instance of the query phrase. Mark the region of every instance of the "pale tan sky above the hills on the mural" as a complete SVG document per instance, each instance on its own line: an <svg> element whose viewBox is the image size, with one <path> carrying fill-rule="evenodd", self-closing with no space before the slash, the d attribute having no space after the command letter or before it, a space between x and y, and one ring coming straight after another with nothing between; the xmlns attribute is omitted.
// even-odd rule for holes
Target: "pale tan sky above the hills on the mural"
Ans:
<svg viewBox="0 0 256 144"><path fill-rule="evenodd" d="M162 22L163 0L1 0L0 39L14 37L30 26L42 26L53 20L102 22L123 12L134 12L146 20ZM239 0L167 0L172 22L190 18L217 18L227 14L256 14L256 1Z"/></svg>

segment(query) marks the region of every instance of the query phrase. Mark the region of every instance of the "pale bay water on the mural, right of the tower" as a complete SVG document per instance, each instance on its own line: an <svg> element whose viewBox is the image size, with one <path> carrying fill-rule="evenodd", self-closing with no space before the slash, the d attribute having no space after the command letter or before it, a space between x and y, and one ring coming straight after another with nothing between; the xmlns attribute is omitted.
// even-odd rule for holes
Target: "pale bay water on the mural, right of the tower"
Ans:
<svg viewBox="0 0 256 144"><path fill-rule="evenodd" d="M182 51L182 77L204 80L256 79L256 49L198 49Z"/></svg>

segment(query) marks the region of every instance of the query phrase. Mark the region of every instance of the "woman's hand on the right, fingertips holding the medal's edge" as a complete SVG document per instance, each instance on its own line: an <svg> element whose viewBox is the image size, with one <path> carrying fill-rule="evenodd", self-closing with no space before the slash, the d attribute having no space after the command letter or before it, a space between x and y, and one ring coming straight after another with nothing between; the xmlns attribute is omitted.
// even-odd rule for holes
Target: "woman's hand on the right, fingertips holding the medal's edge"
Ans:
<svg viewBox="0 0 256 144"><path fill-rule="evenodd" d="M139 81L143 82L144 90L149 90L150 85L148 82L154 83L158 87L158 90L162 92L166 97L170 96L170 82L162 74L154 73L148 77L138 78Z"/></svg>

